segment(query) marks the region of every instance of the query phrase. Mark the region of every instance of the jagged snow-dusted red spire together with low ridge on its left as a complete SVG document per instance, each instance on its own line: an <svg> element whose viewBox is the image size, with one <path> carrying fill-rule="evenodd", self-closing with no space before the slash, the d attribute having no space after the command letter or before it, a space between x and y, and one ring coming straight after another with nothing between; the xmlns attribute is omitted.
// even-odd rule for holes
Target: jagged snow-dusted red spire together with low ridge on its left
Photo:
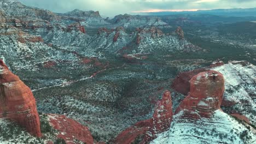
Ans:
<svg viewBox="0 0 256 144"><path fill-rule="evenodd" d="M138 122L127 128L112 143L148 143L156 138L156 134L167 131L171 122L172 98L171 93L165 91L162 99L156 104L153 118Z"/></svg>

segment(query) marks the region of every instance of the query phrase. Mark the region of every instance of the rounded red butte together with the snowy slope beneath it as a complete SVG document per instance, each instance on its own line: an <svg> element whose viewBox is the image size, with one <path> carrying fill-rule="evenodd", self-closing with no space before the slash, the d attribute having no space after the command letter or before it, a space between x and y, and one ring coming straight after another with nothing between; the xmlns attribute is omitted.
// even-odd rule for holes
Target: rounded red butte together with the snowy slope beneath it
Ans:
<svg viewBox="0 0 256 144"><path fill-rule="evenodd" d="M173 115L170 130L150 143L253 143L253 128L220 109L223 94L221 73L207 70L193 76L190 92Z"/></svg>

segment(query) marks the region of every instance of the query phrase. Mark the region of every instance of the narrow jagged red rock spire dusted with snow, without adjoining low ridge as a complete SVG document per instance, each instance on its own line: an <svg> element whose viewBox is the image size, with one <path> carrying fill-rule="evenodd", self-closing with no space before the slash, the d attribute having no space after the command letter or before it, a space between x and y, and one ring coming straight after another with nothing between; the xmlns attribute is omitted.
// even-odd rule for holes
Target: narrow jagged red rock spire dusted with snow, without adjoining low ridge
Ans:
<svg viewBox="0 0 256 144"><path fill-rule="evenodd" d="M153 118L150 120L150 128L144 140L152 141L156 134L167 131L172 122L172 97L169 91L165 91L162 99L158 101Z"/></svg>

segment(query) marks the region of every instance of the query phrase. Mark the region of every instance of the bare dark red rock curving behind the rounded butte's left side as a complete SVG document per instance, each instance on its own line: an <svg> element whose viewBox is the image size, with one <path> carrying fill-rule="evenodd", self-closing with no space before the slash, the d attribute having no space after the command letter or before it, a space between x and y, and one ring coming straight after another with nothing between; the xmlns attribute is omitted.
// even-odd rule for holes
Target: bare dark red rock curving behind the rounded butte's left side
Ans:
<svg viewBox="0 0 256 144"><path fill-rule="evenodd" d="M184 73L180 73L175 80L172 83L172 88L175 89L177 92L182 93L184 95L187 95L190 91L190 83L189 80L197 75L198 73L201 73L203 71L206 71L206 69L195 69L191 71L187 71Z"/></svg>

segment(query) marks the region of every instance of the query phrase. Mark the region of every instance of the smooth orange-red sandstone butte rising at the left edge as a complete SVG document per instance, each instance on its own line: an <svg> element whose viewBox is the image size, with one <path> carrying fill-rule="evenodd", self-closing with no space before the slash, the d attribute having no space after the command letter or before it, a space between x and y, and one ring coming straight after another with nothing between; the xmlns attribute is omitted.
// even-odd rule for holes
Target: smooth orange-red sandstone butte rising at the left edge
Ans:
<svg viewBox="0 0 256 144"><path fill-rule="evenodd" d="M8 118L33 136L41 137L36 100L24 82L0 59L0 118Z"/></svg>

